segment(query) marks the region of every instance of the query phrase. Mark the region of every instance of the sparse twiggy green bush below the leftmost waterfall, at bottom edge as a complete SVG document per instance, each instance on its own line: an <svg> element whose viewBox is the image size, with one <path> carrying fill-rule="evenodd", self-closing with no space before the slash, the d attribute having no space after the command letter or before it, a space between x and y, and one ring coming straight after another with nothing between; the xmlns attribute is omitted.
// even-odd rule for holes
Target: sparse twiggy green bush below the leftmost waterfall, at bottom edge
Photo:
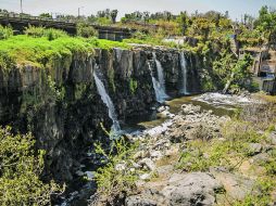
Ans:
<svg viewBox="0 0 276 206"><path fill-rule="evenodd" d="M96 152L104 158L105 163L97 170L95 178L98 184L99 201L102 204L112 205L115 198L130 194L136 189L135 182L138 173L130 169L136 144L129 145L124 138L121 138L112 142L109 153L100 144L95 144L95 146Z"/></svg>

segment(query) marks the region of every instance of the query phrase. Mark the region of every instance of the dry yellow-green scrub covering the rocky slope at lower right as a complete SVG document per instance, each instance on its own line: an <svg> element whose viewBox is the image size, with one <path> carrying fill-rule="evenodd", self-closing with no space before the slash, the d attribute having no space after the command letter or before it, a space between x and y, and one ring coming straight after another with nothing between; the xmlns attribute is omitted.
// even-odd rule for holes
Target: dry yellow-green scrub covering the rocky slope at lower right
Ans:
<svg viewBox="0 0 276 206"><path fill-rule="evenodd" d="M261 111L271 115L262 114ZM260 125L255 120L259 120ZM268 105L251 105L244 108L236 119L225 123L216 136L210 134L212 130L209 130L208 126L205 129L199 128L201 136L188 141L176 167L185 171L210 171L211 168L224 168L230 172L254 177L255 185L244 199L230 199L226 196L226 204L268 205L272 203L272 192L276 186L275 147L266 151L267 158L254 162L247 167L244 164L247 165L256 155L252 144L258 143L263 146L269 144L269 133L275 131L275 103L268 103ZM264 124L261 124L262 121ZM260 131L265 132L260 133Z"/></svg>

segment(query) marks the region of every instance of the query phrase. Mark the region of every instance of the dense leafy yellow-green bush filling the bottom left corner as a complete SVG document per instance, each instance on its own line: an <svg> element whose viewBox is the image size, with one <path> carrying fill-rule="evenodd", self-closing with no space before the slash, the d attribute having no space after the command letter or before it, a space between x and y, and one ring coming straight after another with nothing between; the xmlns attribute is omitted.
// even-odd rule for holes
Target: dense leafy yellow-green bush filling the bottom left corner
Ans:
<svg viewBox="0 0 276 206"><path fill-rule="evenodd" d="M45 151L34 150L30 133L12 134L11 128L0 128L0 204L49 205L51 195L61 189L54 182L43 183Z"/></svg>

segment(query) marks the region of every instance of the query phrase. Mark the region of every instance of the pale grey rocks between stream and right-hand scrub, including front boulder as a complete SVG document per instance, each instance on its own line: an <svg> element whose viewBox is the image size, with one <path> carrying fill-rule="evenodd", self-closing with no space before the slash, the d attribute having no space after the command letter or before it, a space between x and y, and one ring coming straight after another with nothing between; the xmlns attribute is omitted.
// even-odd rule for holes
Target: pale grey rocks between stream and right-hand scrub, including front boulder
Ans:
<svg viewBox="0 0 276 206"><path fill-rule="evenodd" d="M160 111L164 113L164 111ZM168 112L166 111L168 114ZM212 111L201 112L200 106L183 105L177 115L162 126L134 137L141 143L135 159L148 173L137 182L141 192L126 198L127 206L135 205L212 205L216 191L223 184L210 172L183 172L175 169L183 143L199 138L202 125L208 125L211 136L216 136L219 125L229 117L218 117ZM206 129L206 128L205 128ZM204 137L210 139L212 137ZM152 176L158 176L152 179Z"/></svg>

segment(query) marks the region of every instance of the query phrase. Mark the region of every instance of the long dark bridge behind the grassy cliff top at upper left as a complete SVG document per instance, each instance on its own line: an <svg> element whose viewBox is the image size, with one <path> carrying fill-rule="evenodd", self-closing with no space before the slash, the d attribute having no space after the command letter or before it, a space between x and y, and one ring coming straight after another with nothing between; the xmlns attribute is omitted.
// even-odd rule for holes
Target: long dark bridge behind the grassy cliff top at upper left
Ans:
<svg viewBox="0 0 276 206"><path fill-rule="evenodd" d="M11 25L14 30L23 33L25 27L42 26L46 28L57 28L67 31L71 35L77 33L77 22L74 21L61 21L57 18L47 18L40 16L26 16L14 13L0 13L0 25ZM109 39L114 41L121 41L131 37L131 34L136 29L122 28L116 26L101 26L97 24L90 24L91 27L98 30L100 39Z"/></svg>

